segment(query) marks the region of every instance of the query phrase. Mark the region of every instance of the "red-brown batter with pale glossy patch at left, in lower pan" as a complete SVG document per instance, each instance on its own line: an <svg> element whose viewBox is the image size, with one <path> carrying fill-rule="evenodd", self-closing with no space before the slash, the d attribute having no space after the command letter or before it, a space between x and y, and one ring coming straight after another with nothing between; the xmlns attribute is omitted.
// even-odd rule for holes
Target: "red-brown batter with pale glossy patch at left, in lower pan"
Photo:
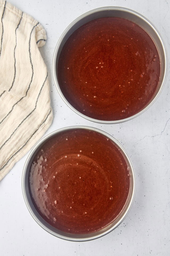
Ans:
<svg viewBox="0 0 170 256"><path fill-rule="evenodd" d="M29 190L50 225L68 233L91 233L122 211L130 190L129 166L104 135L86 129L63 131L37 152Z"/></svg>

